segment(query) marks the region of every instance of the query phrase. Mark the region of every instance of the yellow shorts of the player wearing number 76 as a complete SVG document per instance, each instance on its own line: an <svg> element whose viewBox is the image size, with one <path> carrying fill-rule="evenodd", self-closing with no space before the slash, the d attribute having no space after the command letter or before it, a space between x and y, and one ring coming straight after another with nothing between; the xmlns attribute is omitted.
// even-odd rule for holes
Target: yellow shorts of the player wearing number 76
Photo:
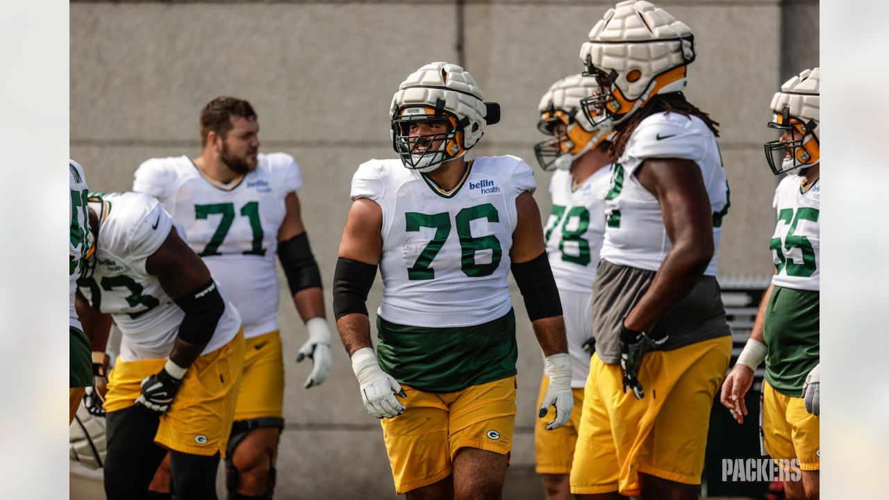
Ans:
<svg viewBox="0 0 889 500"><path fill-rule="evenodd" d="M402 388L404 413L380 421L398 495L451 475L460 448L512 450L515 376L454 392Z"/></svg>

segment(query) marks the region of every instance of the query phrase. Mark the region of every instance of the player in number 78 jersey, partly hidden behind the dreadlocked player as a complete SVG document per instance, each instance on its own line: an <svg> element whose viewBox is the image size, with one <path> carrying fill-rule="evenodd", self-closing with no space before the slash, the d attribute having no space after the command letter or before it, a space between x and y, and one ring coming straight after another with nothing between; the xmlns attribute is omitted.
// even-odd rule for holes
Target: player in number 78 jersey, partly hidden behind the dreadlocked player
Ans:
<svg viewBox="0 0 889 500"><path fill-rule="evenodd" d="M599 250L605 237L605 192L611 160L607 139L612 134L593 127L581 110L581 99L598 91L596 79L573 75L549 87L540 106L537 128L549 136L534 146L541 168L555 169L549 180L552 214L544 228L549 265L565 313L565 334L571 355L571 420L557 431L546 431L545 421L534 425L537 473L543 478L547 500L573 498L568 474L581 423L583 387L589 375L589 357L595 345L592 327L592 285L596 280ZM539 403L549 379L541 382Z"/></svg>

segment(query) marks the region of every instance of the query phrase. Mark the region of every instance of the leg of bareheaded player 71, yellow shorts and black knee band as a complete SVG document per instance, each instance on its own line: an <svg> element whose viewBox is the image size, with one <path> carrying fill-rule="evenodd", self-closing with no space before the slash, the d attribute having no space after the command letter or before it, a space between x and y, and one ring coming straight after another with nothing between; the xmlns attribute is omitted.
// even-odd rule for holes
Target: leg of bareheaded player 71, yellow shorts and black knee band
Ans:
<svg viewBox="0 0 889 500"><path fill-rule="evenodd" d="M226 453L226 488L235 498L271 498L278 438L284 429L281 335L273 331L245 339L244 349L244 373Z"/></svg>

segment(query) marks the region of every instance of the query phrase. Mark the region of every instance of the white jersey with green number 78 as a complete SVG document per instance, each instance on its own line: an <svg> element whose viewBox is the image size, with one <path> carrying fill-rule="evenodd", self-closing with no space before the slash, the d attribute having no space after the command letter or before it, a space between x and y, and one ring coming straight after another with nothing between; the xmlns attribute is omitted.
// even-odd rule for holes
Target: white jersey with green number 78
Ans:
<svg viewBox="0 0 889 500"><path fill-rule="evenodd" d="M557 170L549 180L553 208L544 237L559 290L592 294L605 238L605 192L610 172L610 166L600 168L577 189L573 189L573 177L567 170Z"/></svg>

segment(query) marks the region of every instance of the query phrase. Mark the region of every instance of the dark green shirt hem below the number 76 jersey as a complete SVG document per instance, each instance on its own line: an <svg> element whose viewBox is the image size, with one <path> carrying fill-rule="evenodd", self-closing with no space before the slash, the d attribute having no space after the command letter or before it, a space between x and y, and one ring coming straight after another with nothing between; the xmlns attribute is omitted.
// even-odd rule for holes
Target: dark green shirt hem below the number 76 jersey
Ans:
<svg viewBox="0 0 889 500"><path fill-rule="evenodd" d="M516 375L516 314L474 327L410 327L377 316L377 359L399 383L427 392L461 391Z"/></svg>

